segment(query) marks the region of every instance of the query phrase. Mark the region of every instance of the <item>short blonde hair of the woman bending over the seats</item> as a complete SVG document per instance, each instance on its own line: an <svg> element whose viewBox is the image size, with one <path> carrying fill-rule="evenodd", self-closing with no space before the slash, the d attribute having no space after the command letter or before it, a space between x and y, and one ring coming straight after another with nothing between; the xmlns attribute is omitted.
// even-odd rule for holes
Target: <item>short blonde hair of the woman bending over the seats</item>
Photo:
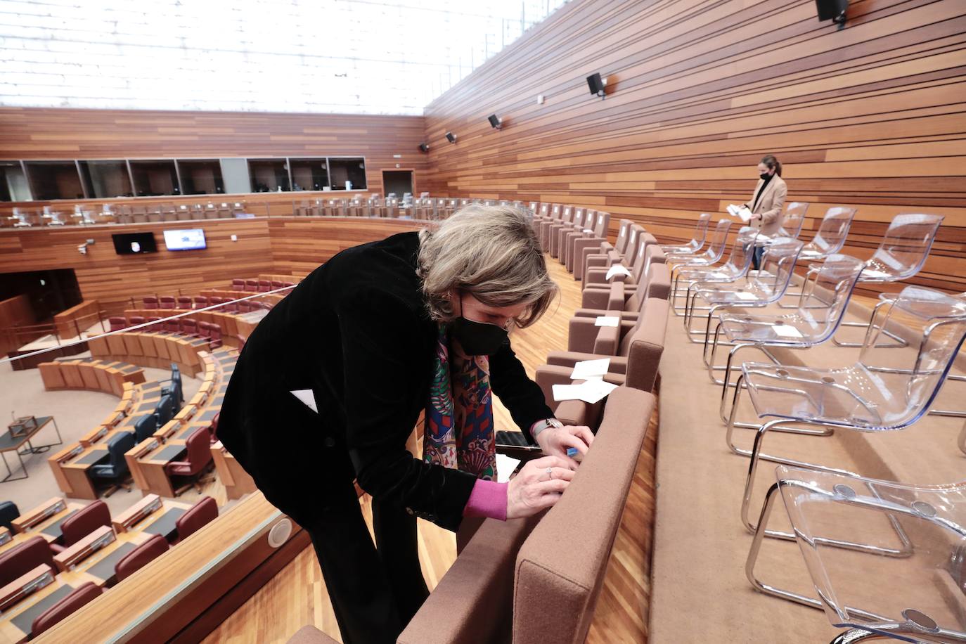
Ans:
<svg viewBox="0 0 966 644"><path fill-rule="evenodd" d="M461 290L488 306L526 304L520 327L540 319L558 289L530 216L509 206L469 204L439 228L419 232L416 272L430 317L453 320L449 296Z"/></svg>

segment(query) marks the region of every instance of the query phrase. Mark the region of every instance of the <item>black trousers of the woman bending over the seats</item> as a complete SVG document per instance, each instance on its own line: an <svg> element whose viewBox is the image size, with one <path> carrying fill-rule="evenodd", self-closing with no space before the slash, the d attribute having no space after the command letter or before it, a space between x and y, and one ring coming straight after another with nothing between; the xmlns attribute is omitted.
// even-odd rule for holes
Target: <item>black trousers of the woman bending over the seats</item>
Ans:
<svg viewBox="0 0 966 644"><path fill-rule="evenodd" d="M327 490L334 497L313 524L312 538L328 597L345 644L395 642L429 589L419 568L416 518L373 499L373 544L355 486Z"/></svg>

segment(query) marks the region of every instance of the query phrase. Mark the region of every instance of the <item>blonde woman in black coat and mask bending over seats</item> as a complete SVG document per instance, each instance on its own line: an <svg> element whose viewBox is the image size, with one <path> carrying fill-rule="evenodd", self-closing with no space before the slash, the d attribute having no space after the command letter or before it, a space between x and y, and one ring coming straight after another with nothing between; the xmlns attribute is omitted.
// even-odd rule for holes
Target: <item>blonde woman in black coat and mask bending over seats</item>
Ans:
<svg viewBox="0 0 966 644"><path fill-rule="evenodd" d="M555 421L507 336L555 294L525 213L471 205L337 254L248 338L218 437L311 535L344 641L395 641L428 596L416 517L455 531L531 516L566 489L567 448L593 437ZM549 455L509 484L496 483L491 391ZM420 460L406 442L424 410Z"/></svg>

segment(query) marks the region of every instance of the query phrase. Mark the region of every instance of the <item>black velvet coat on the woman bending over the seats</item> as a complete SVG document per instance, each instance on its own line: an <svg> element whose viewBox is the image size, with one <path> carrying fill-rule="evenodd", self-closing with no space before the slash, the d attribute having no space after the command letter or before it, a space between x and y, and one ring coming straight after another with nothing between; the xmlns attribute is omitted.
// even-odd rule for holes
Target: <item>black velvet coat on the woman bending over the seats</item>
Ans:
<svg viewBox="0 0 966 644"><path fill-rule="evenodd" d="M406 450L426 406L437 325L403 233L319 266L258 324L228 384L218 437L269 501L303 526L357 479L384 500L455 530L474 477ZM528 429L553 415L509 342L490 357L493 392ZM311 389L319 413L291 392Z"/></svg>

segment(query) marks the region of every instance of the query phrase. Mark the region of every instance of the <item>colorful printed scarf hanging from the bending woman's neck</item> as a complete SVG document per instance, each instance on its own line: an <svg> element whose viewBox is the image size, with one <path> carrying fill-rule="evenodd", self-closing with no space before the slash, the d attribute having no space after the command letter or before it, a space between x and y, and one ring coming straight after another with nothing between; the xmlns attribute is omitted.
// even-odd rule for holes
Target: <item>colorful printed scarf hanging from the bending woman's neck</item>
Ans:
<svg viewBox="0 0 966 644"><path fill-rule="evenodd" d="M423 461L492 481L497 472L490 359L450 356L448 324L440 324L433 382L426 405ZM452 359L450 359L452 357Z"/></svg>

